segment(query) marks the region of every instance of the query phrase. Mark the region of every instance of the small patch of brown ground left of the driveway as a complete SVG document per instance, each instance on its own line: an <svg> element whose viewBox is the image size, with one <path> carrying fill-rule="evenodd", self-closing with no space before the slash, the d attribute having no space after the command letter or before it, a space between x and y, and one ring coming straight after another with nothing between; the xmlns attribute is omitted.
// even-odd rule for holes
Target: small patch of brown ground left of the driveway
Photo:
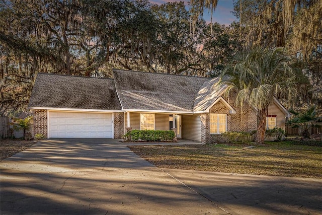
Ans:
<svg viewBox="0 0 322 215"><path fill-rule="evenodd" d="M30 148L37 141L21 140L21 139L2 139L0 140L0 161L9 158L21 151Z"/></svg>

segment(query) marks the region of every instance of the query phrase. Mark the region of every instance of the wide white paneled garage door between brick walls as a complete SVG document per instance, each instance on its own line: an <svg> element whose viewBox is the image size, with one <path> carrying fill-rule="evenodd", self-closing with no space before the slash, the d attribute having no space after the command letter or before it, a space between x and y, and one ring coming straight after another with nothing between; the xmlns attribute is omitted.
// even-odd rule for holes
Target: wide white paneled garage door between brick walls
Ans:
<svg viewBox="0 0 322 215"><path fill-rule="evenodd" d="M113 138L112 113L49 111L49 138Z"/></svg>

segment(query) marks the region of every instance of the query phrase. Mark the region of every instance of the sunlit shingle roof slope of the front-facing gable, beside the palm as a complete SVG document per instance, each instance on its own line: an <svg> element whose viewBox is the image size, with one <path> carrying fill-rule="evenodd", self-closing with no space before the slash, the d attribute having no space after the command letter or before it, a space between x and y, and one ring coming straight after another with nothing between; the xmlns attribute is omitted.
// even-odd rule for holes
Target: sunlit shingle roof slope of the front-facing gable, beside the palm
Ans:
<svg viewBox="0 0 322 215"><path fill-rule="evenodd" d="M225 89L225 86L218 86L218 81L219 77L207 80L203 83L195 98L193 111L206 110L216 99L220 97L220 94Z"/></svg>

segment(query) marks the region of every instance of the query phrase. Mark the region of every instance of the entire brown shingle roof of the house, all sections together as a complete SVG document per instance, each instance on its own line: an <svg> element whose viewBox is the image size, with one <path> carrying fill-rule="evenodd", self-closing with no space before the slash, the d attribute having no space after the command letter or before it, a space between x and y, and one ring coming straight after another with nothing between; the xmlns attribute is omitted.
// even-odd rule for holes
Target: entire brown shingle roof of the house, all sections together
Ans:
<svg viewBox="0 0 322 215"><path fill-rule="evenodd" d="M224 90L216 87L218 78L120 69L113 75L114 80L39 73L29 108L204 111Z"/></svg>

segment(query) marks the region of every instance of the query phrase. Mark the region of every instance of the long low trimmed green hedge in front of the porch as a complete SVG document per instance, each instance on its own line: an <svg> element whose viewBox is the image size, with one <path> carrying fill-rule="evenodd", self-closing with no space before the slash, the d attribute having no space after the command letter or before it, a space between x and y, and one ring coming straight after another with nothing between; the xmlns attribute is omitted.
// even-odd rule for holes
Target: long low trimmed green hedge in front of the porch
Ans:
<svg viewBox="0 0 322 215"><path fill-rule="evenodd" d="M126 141L173 141L175 136L173 130L131 130L124 138Z"/></svg>

